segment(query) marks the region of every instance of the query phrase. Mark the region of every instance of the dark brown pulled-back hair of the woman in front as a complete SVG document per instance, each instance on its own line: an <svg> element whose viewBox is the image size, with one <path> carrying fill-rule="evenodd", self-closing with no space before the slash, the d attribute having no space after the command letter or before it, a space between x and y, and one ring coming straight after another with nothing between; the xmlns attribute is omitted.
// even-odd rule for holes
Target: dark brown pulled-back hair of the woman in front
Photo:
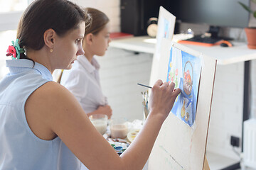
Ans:
<svg viewBox="0 0 256 170"><path fill-rule="evenodd" d="M18 23L17 38L20 47L40 50L45 45L43 34L52 28L59 36L87 19L82 9L68 0L36 0L23 13ZM21 58L26 55L21 54Z"/></svg>

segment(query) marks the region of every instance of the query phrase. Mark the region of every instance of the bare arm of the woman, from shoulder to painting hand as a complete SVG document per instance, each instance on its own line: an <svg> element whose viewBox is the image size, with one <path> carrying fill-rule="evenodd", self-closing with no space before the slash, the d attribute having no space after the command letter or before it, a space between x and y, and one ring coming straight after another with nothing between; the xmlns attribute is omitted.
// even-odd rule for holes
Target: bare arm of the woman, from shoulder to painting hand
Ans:
<svg viewBox="0 0 256 170"><path fill-rule="evenodd" d="M173 90L174 84L156 82L151 90L149 117L121 157L90 123L75 97L60 84L48 82L37 89L26 103L26 117L38 137L50 140L58 135L88 169L142 169L180 93L180 89Z"/></svg>

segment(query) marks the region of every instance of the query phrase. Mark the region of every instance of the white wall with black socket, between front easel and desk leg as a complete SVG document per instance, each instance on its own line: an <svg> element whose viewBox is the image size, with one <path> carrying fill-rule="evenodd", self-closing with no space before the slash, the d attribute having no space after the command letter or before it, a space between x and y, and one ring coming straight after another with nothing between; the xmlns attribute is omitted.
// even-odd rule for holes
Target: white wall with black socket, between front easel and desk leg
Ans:
<svg viewBox="0 0 256 170"><path fill-rule="evenodd" d="M243 77L242 62L217 65L207 150L233 159L238 156L230 145L230 137L242 137Z"/></svg>

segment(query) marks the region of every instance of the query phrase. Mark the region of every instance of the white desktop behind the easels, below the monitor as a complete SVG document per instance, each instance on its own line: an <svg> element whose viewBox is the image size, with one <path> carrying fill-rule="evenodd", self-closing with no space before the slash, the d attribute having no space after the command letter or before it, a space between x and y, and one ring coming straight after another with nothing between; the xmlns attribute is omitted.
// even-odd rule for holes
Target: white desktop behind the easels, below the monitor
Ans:
<svg viewBox="0 0 256 170"><path fill-rule="evenodd" d="M155 44L156 39L148 36L139 36L112 40L112 42L110 42L110 47L154 54ZM220 47L220 45L215 45L212 47L204 47L199 45L185 46L198 52L203 52L204 55L214 57L218 64L233 64L256 59L256 50L248 49L245 42L233 42L233 44L233 47Z"/></svg>

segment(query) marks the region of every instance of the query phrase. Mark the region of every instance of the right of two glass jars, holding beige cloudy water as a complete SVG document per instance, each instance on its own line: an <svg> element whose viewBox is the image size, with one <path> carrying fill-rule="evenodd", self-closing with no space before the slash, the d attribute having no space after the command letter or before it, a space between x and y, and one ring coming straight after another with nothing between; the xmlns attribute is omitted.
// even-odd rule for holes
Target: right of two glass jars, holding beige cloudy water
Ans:
<svg viewBox="0 0 256 170"><path fill-rule="evenodd" d="M112 138L124 139L127 137L128 125L125 118L114 118L110 122L110 132Z"/></svg>

